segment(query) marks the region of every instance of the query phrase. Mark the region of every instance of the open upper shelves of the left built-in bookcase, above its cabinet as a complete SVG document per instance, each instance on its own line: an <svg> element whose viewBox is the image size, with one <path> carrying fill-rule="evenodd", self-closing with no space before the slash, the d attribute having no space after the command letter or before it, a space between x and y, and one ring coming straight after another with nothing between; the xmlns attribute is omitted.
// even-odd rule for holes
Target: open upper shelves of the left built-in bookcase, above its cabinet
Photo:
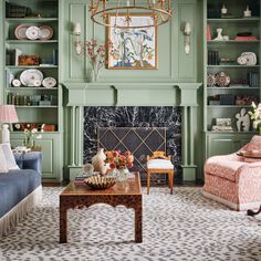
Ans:
<svg viewBox="0 0 261 261"><path fill-rule="evenodd" d="M15 105L21 123L56 125L59 130L59 1L4 4L4 102Z"/></svg>

